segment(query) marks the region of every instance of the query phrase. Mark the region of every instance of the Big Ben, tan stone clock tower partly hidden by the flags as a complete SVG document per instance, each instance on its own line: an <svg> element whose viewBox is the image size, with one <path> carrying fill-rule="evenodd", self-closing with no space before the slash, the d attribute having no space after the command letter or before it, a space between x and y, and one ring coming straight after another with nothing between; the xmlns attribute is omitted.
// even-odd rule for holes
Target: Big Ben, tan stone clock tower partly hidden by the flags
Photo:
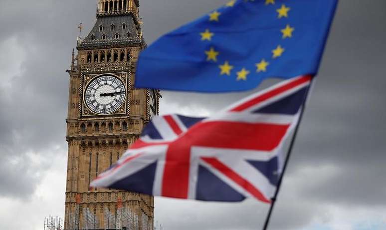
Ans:
<svg viewBox="0 0 386 230"><path fill-rule="evenodd" d="M146 47L139 0L99 0L97 20L72 53L67 117L68 165L64 230L152 229L154 199L89 189L158 114L159 92L134 88Z"/></svg>

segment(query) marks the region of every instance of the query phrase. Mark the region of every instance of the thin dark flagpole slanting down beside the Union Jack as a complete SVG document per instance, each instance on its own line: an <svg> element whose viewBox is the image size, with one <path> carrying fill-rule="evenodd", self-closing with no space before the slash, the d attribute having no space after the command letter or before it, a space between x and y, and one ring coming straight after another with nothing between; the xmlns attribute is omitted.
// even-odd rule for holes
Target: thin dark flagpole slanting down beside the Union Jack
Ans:
<svg viewBox="0 0 386 230"><path fill-rule="evenodd" d="M273 208L275 207L276 199L277 199L277 196L279 195L279 192L280 192L281 183L283 182L283 177L284 177L284 174L286 172L289 159L291 157L292 149L293 149L294 144L295 144L295 140L296 140L296 136L297 136L298 131L299 131L300 123L301 123L301 121L303 119L303 114L304 114L304 110L305 110L305 107L306 107L307 98L308 98L308 95L310 93L310 89L312 87L312 83L313 82L314 82L314 77L312 77L311 83L310 83L310 87L308 88L306 96L304 97L303 105L302 105L302 108L301 108L301 111L300 111L300 115L299 115L299 121L296 124L294 135L292 137L291 144L290 144L290 146L288 148L288 151L287 151L287 156L286 156L286 159L285 159L285 162L284 162L284 166L283 166L283 172L281 173L281 176L279 178L275 195L271 199L271 207L269 208L269 212L268 212L267 218L265 220L263 230L267 230L268 229L269 221L271 220L271 216L272 216L272 211L273 211Z"/></svg>

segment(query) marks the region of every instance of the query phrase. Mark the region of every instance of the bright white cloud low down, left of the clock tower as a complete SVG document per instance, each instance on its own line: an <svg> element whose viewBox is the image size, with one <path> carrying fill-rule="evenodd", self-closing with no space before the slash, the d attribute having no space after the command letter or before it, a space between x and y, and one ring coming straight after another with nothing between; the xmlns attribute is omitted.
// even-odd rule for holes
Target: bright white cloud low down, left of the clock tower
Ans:
<svg viewBox="0 0 386 230"><path fill-rule="evenodd" d="M39 170L42 180L30 199L0 198L1 230L42 230L45 216L64 217L66 164L63 163L67 160L66 151L58 148L50 151L54 151L50 159L28 153L33 164L46 167ZM42 161L49 161L49 164L42 164Z"/></svg>

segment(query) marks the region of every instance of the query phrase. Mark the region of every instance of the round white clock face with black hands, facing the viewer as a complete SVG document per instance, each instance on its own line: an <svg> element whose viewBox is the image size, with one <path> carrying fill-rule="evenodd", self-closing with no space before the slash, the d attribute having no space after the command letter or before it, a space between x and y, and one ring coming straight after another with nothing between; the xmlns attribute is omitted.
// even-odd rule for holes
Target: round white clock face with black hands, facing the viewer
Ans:
<svg viewBox="0 0 386 230"><path fill-rule="evenodd" d="M118 77L109 74L92 79L84 94L87 107L96 114L110 114L117 111L125 98L125 85Z"/></svg>

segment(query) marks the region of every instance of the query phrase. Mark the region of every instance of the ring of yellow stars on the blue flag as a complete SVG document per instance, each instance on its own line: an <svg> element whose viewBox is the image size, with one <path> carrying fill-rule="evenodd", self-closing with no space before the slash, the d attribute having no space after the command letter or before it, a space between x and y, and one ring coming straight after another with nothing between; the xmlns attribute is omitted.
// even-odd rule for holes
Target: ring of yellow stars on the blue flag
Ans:
<svg viewBox="0 0 386 230"><path fill-rule="evenodd" d="M255 1L255 0L244 0L244 2L248 1ZM237 0L230 0L228 1L224 6L225 7L233 7L235 6ZM265 5L275 5L275 0L265 0ZM285 4L282 4L279 8L276 9L277 18L288 18L290 14L291 8L288 7ZM217 23L220 21L221 18L221 12L214 10L208 14L209 16L209 22ZM295 31L294 27L291 27L291 25L287 24L286 27L280 30L282 33L282 39L287 39L292 37L292 33ZM201 41L212 41L212 38L215 36L215 33L210 31L209 29L205 29L205 31L202 31L199 33L201 36ZM280 58L283 53L285 52L285 48L282 47L280 44L278 44L274 49L272 49L272 59L275 60L277 58ZM217 62L217 56L220 55L220 52L216 51L215 48L212 46L209 50L205 50L206 55L206 61L209 62ZM257 62L255 64L256 66L256 73L266 72L268 70L268 67L270 65L270 62L268 62L265 58L262 58L260 62ZM234 66L229 63L229 61L225 61L223 64L218 65L218 68L220 70L220 75L227 75L230 76L232 74L232 71L234 70ZM246 81L248 78L248 75L251 72L246 68L242 67L239 71L236 72L237 78L236 81Z"/></svg>

